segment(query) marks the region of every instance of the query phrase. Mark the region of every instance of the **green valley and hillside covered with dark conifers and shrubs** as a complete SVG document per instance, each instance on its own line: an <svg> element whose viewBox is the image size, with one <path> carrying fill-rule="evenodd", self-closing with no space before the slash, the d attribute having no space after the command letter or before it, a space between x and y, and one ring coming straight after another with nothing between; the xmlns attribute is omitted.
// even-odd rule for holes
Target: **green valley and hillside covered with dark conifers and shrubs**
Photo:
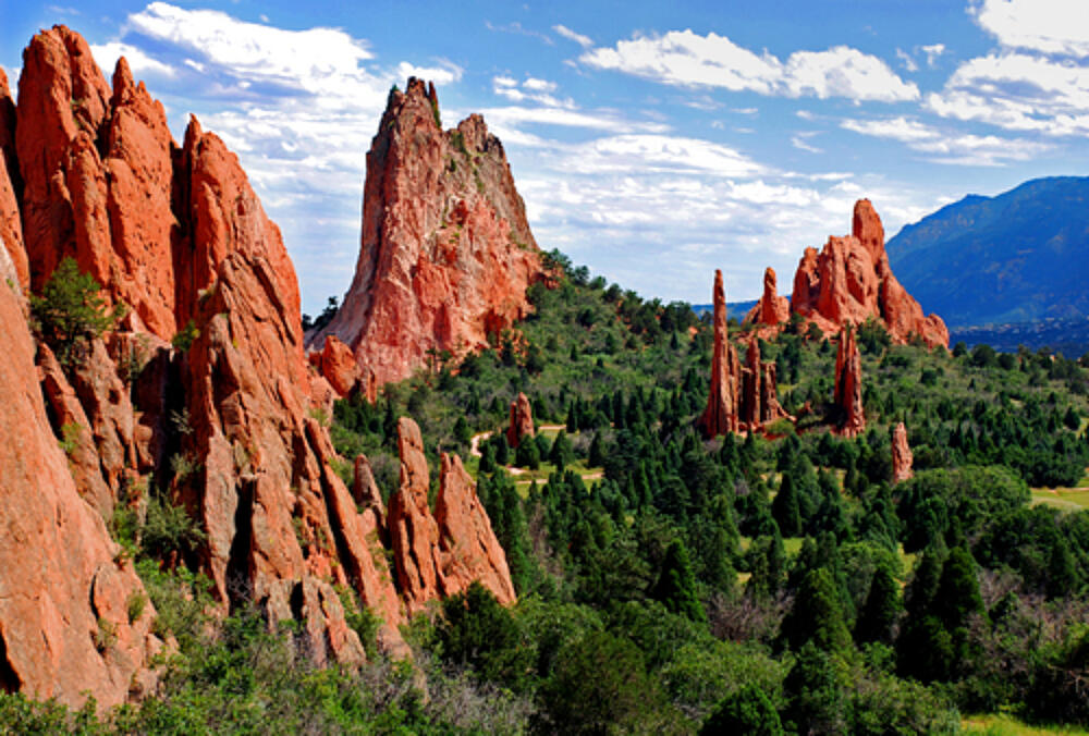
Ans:
<svg viewBox="0 0 1089 736"><path fill-rule="evenodd" d="M256 610L210 621L208 581L162 564L200 532L155 506L113 532L176 641L160 692L105 724L0 696L0 720L82 733L956 733L963 713L999 710L1089 723L1089 492L1069 490L1089 486L1084 367L892 346L869 323L868 429L844 440L827 424L835 346L795 320L760 351L796 425L706 440L708 322L550 258L565 275L529 290L535 312L492 349L435 354L377 404L355 395L320 417L345 480L365 453L386 500L400 416L423 430L432 491L438 452L460 454L514 606L479 586L436 602L399 663L345 590L369 661L319 668L298 631ZM512 449L519 392L537 431ZM898 421L915 477L894 483Z"/></svg>

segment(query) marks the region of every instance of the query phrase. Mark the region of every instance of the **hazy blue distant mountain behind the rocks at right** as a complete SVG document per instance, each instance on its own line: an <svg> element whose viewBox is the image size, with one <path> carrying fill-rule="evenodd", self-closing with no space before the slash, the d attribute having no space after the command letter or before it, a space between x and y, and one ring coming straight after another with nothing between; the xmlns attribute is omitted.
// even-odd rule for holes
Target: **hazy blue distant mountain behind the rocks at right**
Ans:
<svg viewBox="0 0 1089 736"><path fill-rule="evenodd" d="M885 246L927 312L958 328L1089 316L1089 177L969 195Z"/></svg>

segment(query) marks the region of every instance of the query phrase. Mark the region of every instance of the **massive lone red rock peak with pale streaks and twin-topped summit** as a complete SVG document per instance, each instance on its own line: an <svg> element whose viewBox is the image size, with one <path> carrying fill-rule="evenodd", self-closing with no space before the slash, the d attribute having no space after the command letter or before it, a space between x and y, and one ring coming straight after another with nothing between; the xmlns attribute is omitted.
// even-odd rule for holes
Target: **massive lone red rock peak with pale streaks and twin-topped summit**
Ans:
<svg viewBox="0 0 1089 736"><path fill-rule="evenodd" d="M429 354L484 348L530 311L540 254L499 139L470 115L438 125L433 87L390 93L367 154L363 236L351 289L310 335L347 343L378 383L405 378Z"/></svg>

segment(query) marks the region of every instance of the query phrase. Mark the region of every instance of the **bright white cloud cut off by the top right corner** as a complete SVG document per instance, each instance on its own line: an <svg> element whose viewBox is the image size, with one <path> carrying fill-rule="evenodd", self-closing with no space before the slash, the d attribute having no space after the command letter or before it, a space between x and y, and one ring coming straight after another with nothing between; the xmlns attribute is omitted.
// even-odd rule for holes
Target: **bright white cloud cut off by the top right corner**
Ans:
<svg viewBox="0 0 1089 736"><path fill-rule="evenodd" d="M969 14L1011 48L1089 56L1089 23L1080 0L976 0Z"/></svg>

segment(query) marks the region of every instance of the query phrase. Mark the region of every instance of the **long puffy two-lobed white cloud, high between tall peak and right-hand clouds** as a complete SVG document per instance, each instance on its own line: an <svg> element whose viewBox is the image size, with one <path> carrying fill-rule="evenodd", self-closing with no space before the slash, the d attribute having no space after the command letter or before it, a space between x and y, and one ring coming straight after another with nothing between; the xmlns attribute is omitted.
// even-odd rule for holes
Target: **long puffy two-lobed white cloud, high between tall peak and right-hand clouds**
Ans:
<svg viewBox="0 0 1089 736"><path fill-rule="evenodd" d="M827 51L795 51L785 62L755 53L725 36L671 30L636 36L614 48L586 51L579 61L676 86L721 87L785 97L846 97L902 101L919 97L914 83L901 79L877 57L837 46Z"/></svg>

